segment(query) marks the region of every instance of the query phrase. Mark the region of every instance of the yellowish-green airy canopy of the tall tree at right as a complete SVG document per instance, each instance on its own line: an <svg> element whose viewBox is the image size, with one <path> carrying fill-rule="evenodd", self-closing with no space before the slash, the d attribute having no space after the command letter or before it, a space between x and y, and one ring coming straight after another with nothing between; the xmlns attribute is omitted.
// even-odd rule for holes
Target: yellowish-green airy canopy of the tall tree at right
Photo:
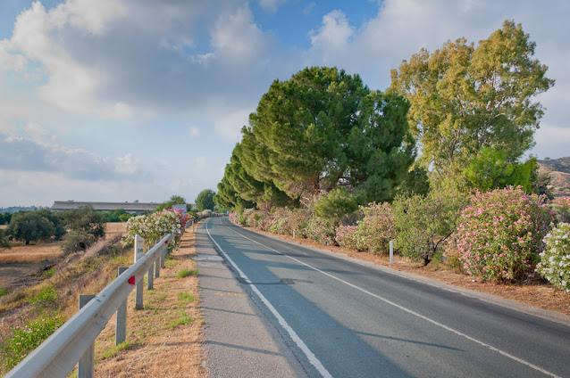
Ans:
<svg viewBox="0 0 570 378"><path fill-rule="evenodd" d="M532 147L543 114L533 97L554 85L534 48L520 24L505 21L476 48L460 38L392 70L390 91L411 103L424 168L461 172L485 148L513 163Z"/></svg>

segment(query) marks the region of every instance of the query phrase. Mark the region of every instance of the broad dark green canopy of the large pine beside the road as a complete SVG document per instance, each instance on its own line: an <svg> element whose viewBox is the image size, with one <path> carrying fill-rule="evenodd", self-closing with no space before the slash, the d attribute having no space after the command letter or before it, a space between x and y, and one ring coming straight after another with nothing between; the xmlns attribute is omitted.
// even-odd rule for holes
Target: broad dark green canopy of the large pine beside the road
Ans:
<svg viewBox="0 0 570 378"><path fill-rule="evenodd" d="M371 91L358 75L307 68L272 83L236 155L249 176L307 206L337 186L361 202L385 201L415 158L407 109L403 97Z"/></svg>

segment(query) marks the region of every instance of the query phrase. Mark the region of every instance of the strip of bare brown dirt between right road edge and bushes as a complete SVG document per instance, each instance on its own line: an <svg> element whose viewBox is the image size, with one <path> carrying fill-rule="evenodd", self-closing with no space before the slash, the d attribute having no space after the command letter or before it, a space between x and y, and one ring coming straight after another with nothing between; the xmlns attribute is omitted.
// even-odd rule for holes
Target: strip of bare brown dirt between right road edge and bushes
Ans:
<svg viewBox="0 0 570 378"><path fill-rule="evenodd" d="M271 234L264 231L259 231L257 229L256 232L260 232L262 234ZM401 272L422 275L424 277L438 280L445 284L452 284L477 292L486 292L501 298L505 298L507 300L517 300L534 307L549 309L551 311L557 311L566 315L570 315L570 294L557 290L549 284L544 284L541 282L529 284L493 284L482 280L481 277L473 277L470 275L455 273L449 270L449 267L444 263L430 263L430 265L427 267L423 267L422 264L415 263L400 256L394 256L394 264L390 264L390 259L387 256L351 251L336 246L323 246L317 242L307 239L293 239L289 235L271 235L280 237L281 239L289 240L291 242L298 242L300 244L321 248L323 250L342 253L343 255L350 258L370 261L373 264L390 267Z"/></svg>

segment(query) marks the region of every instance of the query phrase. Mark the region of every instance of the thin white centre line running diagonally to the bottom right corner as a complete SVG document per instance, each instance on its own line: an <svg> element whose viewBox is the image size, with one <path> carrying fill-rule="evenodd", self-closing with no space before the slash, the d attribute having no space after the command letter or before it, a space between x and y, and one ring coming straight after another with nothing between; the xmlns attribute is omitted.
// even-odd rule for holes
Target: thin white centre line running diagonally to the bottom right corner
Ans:
<svg viewBox="0 0 570 378"><path fill-rule="evenodd" d="M225 225L222 225L222 226L225 226ZM225 226L225 227L230 228L229 226ZM235 234L239 234L239 232L237 232L237 231L235 231L235 230L233 230L233 229L231 229L231 228L230 228L230 230L231 230L233 233L235 233ZM317 267L313 267L313 266L311 266L311 265L309 265L309 264L306 264L305 262L300 261L300 260L298 260L298 259L295 259L294 257L291 257L291 256L289 256L289 255L286 255L285 253L283 253L283 252L281 252L281 251L274 250L274 249L272 249L271 247L268 247L268 246L262 244L261 242L257 242L257 241L255 241L255 240L253 240L253 239L251 239L251 238L248 238L248 237L247 237L246 235L244 235L244 234L239 234L239 236L244 237L244 238L246 238L247 240L250 240L251 242L256 242L257 244L259 244L259 245L261 245L261 246L263 246L263 247L265 247L265 248L267 248L267 249L269 249L269 250L271 250L271 251L274 251L274 252L279 253L281 256L285 256L286 258L293 259L293 260L297 261L299 264L302 264L302 265L304 265L304 266L306 266L306 267L310 267L311 269L313 269L313 270L316 271L316 272L322 273L323 275L328 275L329 277L331 277L331 278L333 278L333 279L335 279L335 280L337 280L337 281L339 281L339 282L341 282L341 283L343 283L343 284L348 284L348 286L353 287L353 288L355 288L356 290L358 290L358 291L360 291L360 292L365 292L366 294L371 295L371 296L373 296L374 298L376 298L376 299L378 299L378 300L382 300L382 301L384 301L384 302L390 304L391 306L394 306L395 308L399 308L399 309L401 309L402 311L406 311L407 313L412 314L412 315L414 315L414 316L417 316L417 317L419 317L419 318L421 318L421 319L423 319L423 320L425 320L425 321L428 321L428 322L432 323L433 325L438 325L438 326L440 326L441 328L443 328L443 329L445 329L445 330L447 330L447 331L449 331L449 332L451 332L451 333L455 333L455 334L457 334L457 335L459 335L459 336L463 336L463 337L465 337L465 339L467 339L467 340L469 340L469 341L474 341L475 343L477 343L477 344L479 344L479 345L482 345L483 347L486 347L486 348L488 348L488 349L490 349L490 350L493 350L493 351L495 351L495 352L497 352L497 353L499 353L499 354L501 354L501 355L503 355L503 356L505 356L505 357L508 357L508 358L510 358L510 359L513 359L513 360L515 360L516 362L519 362L519 363L521 363L521 364L523 364L523 365L525 365L525 366L532 367L532 369L537 370L537 371L541 372L542 374L549 375L549 376L551 376L551 377L553 377L553 378L562 378L562 377L560 377L560 376L557 375L557 374L550 373L548 370L544 370L544 369L541 368L540 366L533 365L533 364L531 364L530 362L525 361L525 360L522 359L522 358L513 356L513 355L507 353L506 351L503 351L503 350L501 350L501 349L497 349L497 348L491 346L490 344L487 344L487 343L485 343L485 342L483 342L483 341L479 341L479 340L477 340L477 339L474 339L473 337L471 337L471 336L469 336L469 335L466 335L465 333L461 333L461 332L459 332L459 331L457 331L457 330L455 330L455 329L453 329L453 328L450 328L450 327L448 327L447 325L442 325L441 323L439 323L439 322L437 322L437 321L435 321L435 320L433 320L433 319L431 319L431 318L429 318L429 317L427 317L427 316L423 316L422 314L418 314L417 312L415 312L415 311L413 311L413 310L411 310L411 309L409 309L409 308L405 308L405 307L403 307L403 306L400 306L400 305L398 305L397 303L392 302L391 300L387 300L387 299L382 298L381 296L379 296L379 295L377 295L377 294L374 294L373 292L368 292L367 290L365 290L365 289L363 289L363 288L361 288L361 287L359 287L359 286L356 286L355 284L350 284L350 283L348 283L347 281L345 281L345 280L343 280L343 279L341 279L341 278L339 278L339 277L336 277L336 276L334 276L334 275L331 275L331 274L329 274L329 273L326 273L326 272L324 272L323 270L321 270L321 269L319 269L319 268L317 268Z"/></svg>

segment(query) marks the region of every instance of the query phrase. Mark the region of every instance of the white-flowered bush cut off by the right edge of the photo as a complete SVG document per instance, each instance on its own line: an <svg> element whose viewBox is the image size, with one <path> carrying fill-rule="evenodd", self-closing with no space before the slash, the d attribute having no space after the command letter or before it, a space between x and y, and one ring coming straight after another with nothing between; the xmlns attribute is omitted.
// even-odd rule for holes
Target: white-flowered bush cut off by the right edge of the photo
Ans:
<svg viewBox="0 0 570 378"><path fill-rule="evenodd" d="M546 248L536 271L549 283L570 293L570 224L559 223L544 237Z"/></svg>

